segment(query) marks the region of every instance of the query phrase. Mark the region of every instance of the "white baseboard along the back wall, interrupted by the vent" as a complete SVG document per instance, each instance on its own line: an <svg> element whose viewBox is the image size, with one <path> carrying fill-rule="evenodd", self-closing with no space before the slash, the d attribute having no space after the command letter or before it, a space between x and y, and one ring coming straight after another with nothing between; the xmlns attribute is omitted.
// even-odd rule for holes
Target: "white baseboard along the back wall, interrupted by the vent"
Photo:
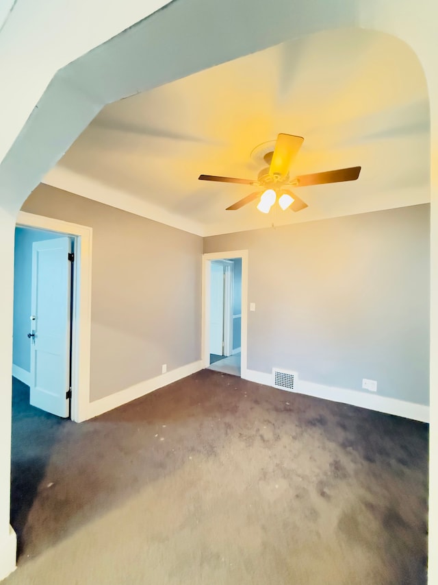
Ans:
<svg viewBox="0 0 438 585"><path fill-rule="evenodd" d="M256 370L242 370L241 376L251 382L272 386L272 374L257 372ZM285 392L289 392L289 390L285 390ZM388 398L379 394L366 394L358 390L346 390L345 388L325 386L324 384L316 384L305 380L298 380L294 393L368 408L385 414L395 414L396 416L420 420L421 422L429 422L428 406L401 401L397 398Z"/></svg>

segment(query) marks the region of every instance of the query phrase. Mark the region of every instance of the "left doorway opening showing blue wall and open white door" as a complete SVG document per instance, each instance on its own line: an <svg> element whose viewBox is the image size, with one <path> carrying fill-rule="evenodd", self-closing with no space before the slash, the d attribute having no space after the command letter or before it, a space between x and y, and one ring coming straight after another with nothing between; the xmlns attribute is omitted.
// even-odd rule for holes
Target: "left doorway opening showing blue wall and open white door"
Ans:
<svg viewBox="0 0 438 585"><path fill-rule="evenodd" d="M70 418L74 283L74 237L16 227L14 387L29 387L31 406L61 418Z"/></svg>

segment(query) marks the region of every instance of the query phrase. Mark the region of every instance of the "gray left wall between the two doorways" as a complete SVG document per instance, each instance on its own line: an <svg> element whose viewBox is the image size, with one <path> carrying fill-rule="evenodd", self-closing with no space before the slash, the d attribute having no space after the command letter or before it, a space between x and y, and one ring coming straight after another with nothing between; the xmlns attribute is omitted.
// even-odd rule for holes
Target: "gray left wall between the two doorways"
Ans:
<svg viewBox="0 0 438 585"><path fill-rule="evenodd" d="M93 228L92 401L201 359L201 237L44 184L23 211Z"/></svg>

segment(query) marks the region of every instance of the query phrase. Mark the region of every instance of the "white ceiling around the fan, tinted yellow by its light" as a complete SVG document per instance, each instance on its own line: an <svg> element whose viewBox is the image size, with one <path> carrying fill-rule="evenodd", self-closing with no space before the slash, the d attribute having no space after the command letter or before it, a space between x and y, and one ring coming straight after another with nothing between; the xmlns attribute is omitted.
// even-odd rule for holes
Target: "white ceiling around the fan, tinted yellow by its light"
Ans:
<svg viewBox="0 0 438 585"><path fill-rule="evenodd" d="M200 235L424 203L427 95L401 41L323 32L106 106L44 182ZM291 175L361 165L359 180L297 189L299 213L225 211L253 187L198 175L256 178L250 153L279 132L305 137Z"/></svg>

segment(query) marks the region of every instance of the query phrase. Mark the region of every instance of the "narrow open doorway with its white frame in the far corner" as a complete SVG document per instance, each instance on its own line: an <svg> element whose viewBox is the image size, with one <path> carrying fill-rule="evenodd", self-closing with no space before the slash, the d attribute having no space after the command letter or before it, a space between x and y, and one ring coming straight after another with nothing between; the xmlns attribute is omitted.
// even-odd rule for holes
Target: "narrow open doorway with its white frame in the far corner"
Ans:
<svg viewBox="0 0 438 585"><path fill-rule="evenodd" d="M203 365L246 372L246 250L203 255Z"/></svg>

